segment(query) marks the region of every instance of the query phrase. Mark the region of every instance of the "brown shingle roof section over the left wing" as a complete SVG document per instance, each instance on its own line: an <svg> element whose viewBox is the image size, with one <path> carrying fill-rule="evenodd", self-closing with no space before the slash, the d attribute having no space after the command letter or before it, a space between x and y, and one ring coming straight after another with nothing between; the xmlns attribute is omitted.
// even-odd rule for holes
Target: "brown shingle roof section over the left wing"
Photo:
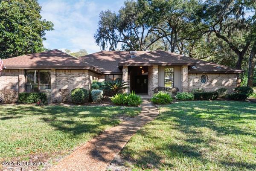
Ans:
<svg viewBox="0 0 256 171"><path fill-rule="evenodd" d="M3 63L7 69L88 69L100 73L100 71L92 65L88 66L87 64L81 62L79 59L58 49L18 56L14 58L7 58L3 60Z"/></svg>

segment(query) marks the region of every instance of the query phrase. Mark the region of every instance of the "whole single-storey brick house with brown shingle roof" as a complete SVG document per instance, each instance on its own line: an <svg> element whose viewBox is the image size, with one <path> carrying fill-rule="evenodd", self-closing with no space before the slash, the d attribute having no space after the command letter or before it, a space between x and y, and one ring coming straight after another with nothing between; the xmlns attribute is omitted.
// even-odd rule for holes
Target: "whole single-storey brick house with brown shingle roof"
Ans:
<svg viewBox="0 0 256 171"><path fill-rule="evenodd" d="M243 72L223 65L185 57L171 52L101 51L75 58L60 50L23 55L3 60L0 90L20 92L52 90L59 101L59 89L90 89L93 80L128 82L126 92L153 95L156 87L178 87L180 92L195 88L229 92L236 87L237 74Z"/></svg>

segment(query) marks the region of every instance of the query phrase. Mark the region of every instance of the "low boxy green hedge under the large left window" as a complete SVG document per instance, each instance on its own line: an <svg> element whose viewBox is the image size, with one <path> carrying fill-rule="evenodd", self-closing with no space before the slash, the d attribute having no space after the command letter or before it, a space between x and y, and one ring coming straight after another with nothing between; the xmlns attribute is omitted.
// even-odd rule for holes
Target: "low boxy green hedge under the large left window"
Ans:
<svg viewBox="0 0 256 171"><path fill-rule="evenodd" d="M41 101L45 103L47 101L46 93L20 93L19 94L19 103L37 103Z"/></svg>

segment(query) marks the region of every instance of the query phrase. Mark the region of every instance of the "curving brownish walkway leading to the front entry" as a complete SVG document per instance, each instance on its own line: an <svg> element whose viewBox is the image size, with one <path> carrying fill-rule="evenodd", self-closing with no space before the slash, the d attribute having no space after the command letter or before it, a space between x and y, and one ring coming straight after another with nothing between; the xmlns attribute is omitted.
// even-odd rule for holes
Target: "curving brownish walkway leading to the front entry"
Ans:
<svg viewBox="0 0 256 171"><path fill-rule="evenodd" d="M105 171L134 133L159 114L157 107L146 100L143 100L141 107L142 112L138 116L104 131L64 157L49 171Z"/></svg>

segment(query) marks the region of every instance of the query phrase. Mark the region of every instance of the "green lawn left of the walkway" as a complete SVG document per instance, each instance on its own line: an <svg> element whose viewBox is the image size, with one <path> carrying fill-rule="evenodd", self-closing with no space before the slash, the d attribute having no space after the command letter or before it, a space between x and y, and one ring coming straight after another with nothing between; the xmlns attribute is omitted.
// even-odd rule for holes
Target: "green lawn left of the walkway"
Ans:
<svg viewBox="0 0 256 171"><path fill-rule="evenodd" d="M0 160L70 151L139 107L0 105Z"/></svg>

